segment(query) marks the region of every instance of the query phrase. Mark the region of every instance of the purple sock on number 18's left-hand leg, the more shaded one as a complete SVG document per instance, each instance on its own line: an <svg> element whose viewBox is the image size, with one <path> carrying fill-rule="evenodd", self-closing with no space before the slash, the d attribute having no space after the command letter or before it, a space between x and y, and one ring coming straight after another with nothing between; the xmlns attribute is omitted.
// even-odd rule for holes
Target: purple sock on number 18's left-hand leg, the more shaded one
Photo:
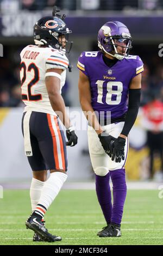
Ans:
<svg viewBox="0 0 163 256"><path fill-rule="evenodd" d="M96 175L96 174L95 174ZM103 215L105 217L106 223L111 222L112 214L112 203L111 203L111 191L110 191L110 173L105 176L96 175L96 193L98 202L101 205Z"/></svg>

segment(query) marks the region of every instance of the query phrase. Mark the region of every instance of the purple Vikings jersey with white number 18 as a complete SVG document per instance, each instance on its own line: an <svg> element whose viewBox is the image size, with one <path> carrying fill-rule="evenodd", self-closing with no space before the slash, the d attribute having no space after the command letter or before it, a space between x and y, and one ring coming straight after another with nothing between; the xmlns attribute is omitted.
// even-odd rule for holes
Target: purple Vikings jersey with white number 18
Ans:
<svg viewBox="0 0 163 256"><path fill-rule="evenodd" d="M129 55L118 60L109 68L104 63L103 53L83 52L77 64L90 80L91 105L94 111L104 115L111 113L111 119L122 117L127 112L130 81L143 71L139 56Z"/></svg>

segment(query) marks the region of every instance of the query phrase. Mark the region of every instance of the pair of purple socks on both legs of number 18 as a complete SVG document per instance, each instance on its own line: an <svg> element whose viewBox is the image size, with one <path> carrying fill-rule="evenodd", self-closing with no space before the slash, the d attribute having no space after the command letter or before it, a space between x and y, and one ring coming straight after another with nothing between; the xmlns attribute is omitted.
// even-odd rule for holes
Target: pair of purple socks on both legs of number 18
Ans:
<svg viewBox="0 0 163 256"><path fill-rule="evenodd" d="M113 207L109 179L112 180ZM127 194L125 169L111 170L105 176L96 175L96 193L106 223L121 224Z"/></svg>

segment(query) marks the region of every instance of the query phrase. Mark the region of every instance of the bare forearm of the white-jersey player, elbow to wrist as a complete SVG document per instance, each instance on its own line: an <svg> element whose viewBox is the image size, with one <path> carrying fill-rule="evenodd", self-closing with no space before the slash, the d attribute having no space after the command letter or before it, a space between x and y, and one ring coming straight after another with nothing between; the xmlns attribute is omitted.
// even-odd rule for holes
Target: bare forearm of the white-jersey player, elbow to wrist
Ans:
<svg viewBox="0 0 163 256"><path fill-rule="evenodd" d="M68 118L65 102L60 93L49 95L52 108L57 113L59 119L66 128L71 126L70 119Z"/></svg>

